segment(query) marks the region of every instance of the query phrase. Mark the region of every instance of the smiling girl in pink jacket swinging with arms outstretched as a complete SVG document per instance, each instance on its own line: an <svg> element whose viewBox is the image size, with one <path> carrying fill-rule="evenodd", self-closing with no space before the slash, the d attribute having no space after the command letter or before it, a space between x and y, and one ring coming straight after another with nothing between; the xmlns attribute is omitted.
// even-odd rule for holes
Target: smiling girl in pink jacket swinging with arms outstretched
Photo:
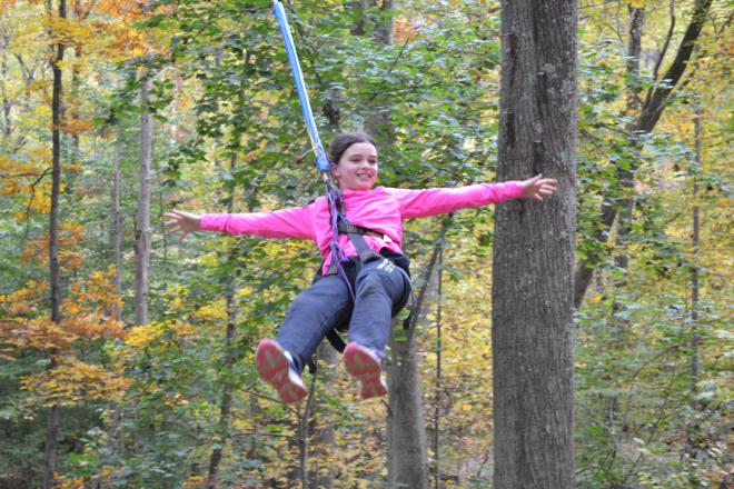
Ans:
<svg viewBox="0 0 734 489"><path fill-rule="evenodd" d="M291 305L275 340L260 341L256 366L284 402L306 397L301 371L324 337L348 323L349 342L344 362L349 375L361 383L361 397L387 393L381 360L390 328L410 293L408 260L403 255L403 219L436 216L463 208L482 207L510 199L543 200L557 190L557 182L536 176L525 181L474 184L454 189L425 190L375 187L378 174L377 144L367 134L346 132L329 144L333 176L344 199L349 222L359 232L368 252L357 250L349 236L340 233L338 244L349 260L344 271L349 286L337 272L331 256L331 226L327 199L319 197L298 208L240 214L204 214L173 210L166 222L181 239L198 230L267 238L301 238L316 241L325 261L311 287ZM357 229L359 228L359 229ZM364 236L363 236L364 234ZM359 247L359 246L358 246ZM363 255L363 260L358 258ZM354 291L351 299L349 287Z"/></svg>

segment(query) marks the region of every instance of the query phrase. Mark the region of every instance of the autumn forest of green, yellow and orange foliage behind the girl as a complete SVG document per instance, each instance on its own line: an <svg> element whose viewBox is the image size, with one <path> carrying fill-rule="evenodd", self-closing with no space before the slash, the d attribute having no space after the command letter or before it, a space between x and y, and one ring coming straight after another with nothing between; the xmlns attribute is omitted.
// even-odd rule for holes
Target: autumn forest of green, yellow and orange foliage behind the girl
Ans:
<svg viewBox="0 0 734 489"><path fill-rule="evenodd" d="M731 4L578 9L576 486L731 487ZM287 10L324 140L494 180L498 2ZM386 486L387 405L329 348L302 406L254 369L313 243L162 227L321 191L269 0L0 1L0 487ZM406 224L435 487L492 485L492 208Z"/></svg>

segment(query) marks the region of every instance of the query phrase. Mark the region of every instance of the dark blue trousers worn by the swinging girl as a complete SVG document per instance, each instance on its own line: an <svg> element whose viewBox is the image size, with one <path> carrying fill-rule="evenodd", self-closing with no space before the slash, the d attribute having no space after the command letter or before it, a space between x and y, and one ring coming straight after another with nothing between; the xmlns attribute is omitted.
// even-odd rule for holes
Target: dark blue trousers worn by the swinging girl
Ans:
<svg viewBox="0 0 734 489"><path fill-rule="evenodd" d="M298 371L304 370L326 333L343 325L348 325L349 341L380 358L385 355L390 320L410 296L410 279L393 261L376 258L361 266L353 288L354 305L339 275L317 277L290 306L276 341L292 355Z"/></svg>

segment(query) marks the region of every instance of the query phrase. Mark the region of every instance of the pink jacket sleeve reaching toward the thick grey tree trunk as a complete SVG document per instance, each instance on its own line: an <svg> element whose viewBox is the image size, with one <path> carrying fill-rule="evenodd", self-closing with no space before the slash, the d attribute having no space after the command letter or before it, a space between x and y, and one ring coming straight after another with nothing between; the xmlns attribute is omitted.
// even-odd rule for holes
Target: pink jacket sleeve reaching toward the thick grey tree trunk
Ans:
<svg viewBox="0 0 734 489"><path fill-rule="evenodd" d="M456 188L390 189L390 191L400 204L404 219L425 218L519 199L524 192L522 182L515 180Z"/></svg>

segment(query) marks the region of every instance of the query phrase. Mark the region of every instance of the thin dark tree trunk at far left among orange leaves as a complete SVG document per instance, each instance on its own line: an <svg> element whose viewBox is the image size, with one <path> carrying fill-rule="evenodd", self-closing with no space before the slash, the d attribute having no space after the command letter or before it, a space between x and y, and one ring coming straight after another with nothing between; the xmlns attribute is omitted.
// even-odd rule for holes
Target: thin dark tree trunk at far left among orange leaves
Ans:
<svg viewBox="0 0 734 489"><path fill-rule="evenodd" d="M51 13L49 11L49 13ZM67 2L59 0L59 18L66 19ZM57 325L61 322L61 281L59 277L59 194L61 192L61 121L63 118L63 80L61 62L63 61L65 46L56 46L56 57L51 63L53 70L53 93L51 98L51 211L49 213L49 286L51 289L51 321ZM56 366L56 351L51 352L51 365ZM59 407L51 406L49 409L46 429L46 452L43 460L43 489L50 489L54 483L56 450L59 436Z"/></svg>

